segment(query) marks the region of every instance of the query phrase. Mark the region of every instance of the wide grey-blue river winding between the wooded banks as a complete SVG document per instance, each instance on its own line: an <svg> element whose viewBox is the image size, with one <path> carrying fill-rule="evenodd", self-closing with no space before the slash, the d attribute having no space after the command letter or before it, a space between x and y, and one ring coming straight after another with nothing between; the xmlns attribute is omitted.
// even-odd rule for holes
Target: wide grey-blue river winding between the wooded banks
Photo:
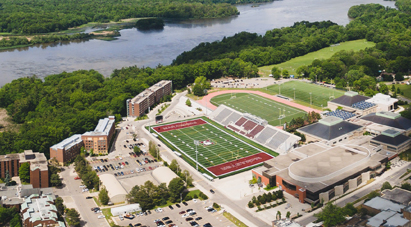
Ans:
<svg viewBox="0 0 411 227"><path fill-rule="evenodd" d="M331 20L340 25L349 22L348 9L353 5L379 3L383 0L282 0L259 7L239 5L239 16L223 19L166 22L164 30L141 32L121 30L114 41L88 40L45 44L0 51L0 86L31 75L41 78L63 71L95 69L109 76L113 69L127 66L168 65L183 51L201 42L221 40L241 31L264 34L267 30L291 26L294 22Z"/></svg>

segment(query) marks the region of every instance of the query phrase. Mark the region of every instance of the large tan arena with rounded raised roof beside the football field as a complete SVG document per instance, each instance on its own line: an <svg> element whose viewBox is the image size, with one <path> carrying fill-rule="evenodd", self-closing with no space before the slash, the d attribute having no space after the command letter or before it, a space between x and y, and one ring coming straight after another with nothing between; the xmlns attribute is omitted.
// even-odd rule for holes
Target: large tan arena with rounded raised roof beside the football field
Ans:
<svg viewBox="0 0 411 227"><path fill-rule="evenodd" d="M312 143L264 162L252 174L301 203L328 202L381 174L388 156L368 145Z"/></svg>

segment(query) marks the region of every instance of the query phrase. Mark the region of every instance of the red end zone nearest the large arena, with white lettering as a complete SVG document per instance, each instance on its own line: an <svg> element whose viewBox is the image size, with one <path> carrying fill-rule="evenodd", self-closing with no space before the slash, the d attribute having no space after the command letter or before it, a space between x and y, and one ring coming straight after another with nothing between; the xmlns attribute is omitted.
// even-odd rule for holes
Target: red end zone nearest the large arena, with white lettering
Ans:
<svg viewBox="0 0 411 227"><path fill-rule="evenodd" d="M261 162L267 161L272 159L273 157L261 152L258 154L254 154L245 158L240 158L235 161L223 163L220 165L212 166L207 168L210 172L214 173L216 176L221 176L226 173L234 172L240 169L247 168L252 165L259 164Z"/></svg>

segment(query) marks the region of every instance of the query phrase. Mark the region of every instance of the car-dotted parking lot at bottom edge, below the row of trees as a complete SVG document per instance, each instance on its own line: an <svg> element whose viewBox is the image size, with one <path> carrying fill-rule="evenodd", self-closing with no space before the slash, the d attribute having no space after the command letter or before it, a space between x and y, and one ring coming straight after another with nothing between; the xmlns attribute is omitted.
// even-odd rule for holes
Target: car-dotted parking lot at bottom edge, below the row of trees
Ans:
<svg viewBox="0 0 411 227"><path fill-rule="evenodd" d="M187 206L183 205L182 203L179 204L180 208L176 205L172 205L173 209L169 207L161 208L162 212L150 211L151 214L143 215L143 216L136 216L134 219L126 219L120 220L119 217L114 217L115 221L120 226L129 226L132 224L133 226L147 226L147 227L155 227L157 224L155 220L162 220L165 226L195 226L191 225L190 222L195 221L198 226L203 227L204 224L210 223L210 226L220 227L220 226L235 226L231 223L228 219L226 219L222 214L219 212L209 212L207 211L206 207L210 207L213 203L209 200L206 201L188 201ZM192 209L195 211L195 215L187 214L187 210ZM185 216L185 217L183 217ZM168 217L168 218L167 218ZM163 221L163 218L166 220ZM189 218L189 219L187 219ZM186 219L188 221L186 221ZM196 220L199 219L199 220ZM170 221L170 222L169 222ZM141 224L141 225L139 225ZM173 225L174 224L174 225Z"/></svg>

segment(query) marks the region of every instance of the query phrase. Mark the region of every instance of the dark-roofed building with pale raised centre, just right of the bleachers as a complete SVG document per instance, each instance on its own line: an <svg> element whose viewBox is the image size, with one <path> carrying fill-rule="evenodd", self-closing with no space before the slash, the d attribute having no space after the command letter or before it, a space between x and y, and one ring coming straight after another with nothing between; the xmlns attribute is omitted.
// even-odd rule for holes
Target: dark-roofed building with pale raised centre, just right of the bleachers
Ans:
<svg viewBox="0 0 411 227"><path fill-rule="evenodd" d="M334 145L362 135L364 128L342 118L330 116L297 131L305 134L306 142L324 141L328 145Z"/></svg>

